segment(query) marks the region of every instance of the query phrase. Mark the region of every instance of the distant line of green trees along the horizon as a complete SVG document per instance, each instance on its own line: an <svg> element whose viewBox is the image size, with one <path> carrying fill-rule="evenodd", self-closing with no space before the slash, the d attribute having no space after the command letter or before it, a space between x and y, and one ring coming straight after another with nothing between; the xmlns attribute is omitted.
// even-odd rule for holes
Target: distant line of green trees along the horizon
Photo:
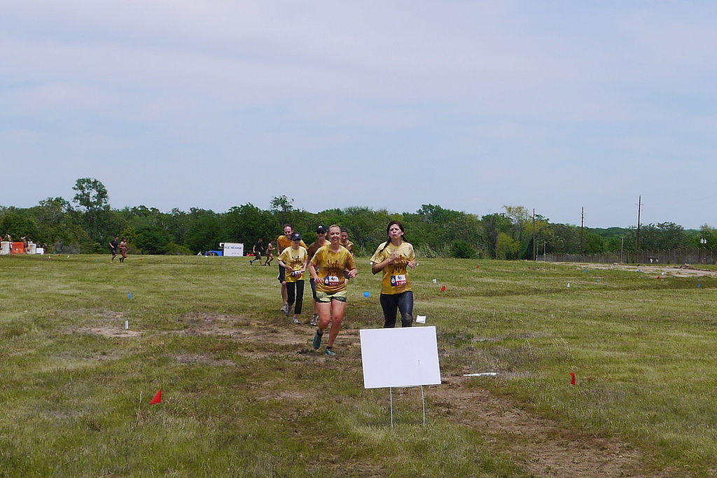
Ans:
<svg viewBox="0 0 717 478"><path fill-rule="evenodd" d="M707 225L690 231L672 222L645 224L639 231L637 227L581 228L551 224L523 206L504 206L504 212L485 216L433 204L424 204L414 213L365 207L312 213L280 196L272 199L268 210L247 203L223 213L194 208L161 212L147 206L111 209L105 186L94 178L78 179L73 189L77 194L72 202L58 197L27 209L0 206L0 234L25 236L57 253L107 252L114 236L124 236L130 252L197 254L217 249L219 242L242 242L251 249L260 237L265 243L276 239L286 223L308 244L316 239L319 224L339 224L350 232L357 253L368 255L386 240L389 221L398 220L421 257L533 259L533 254L543 253L600 254L717 245L717 230Z"/></svg>

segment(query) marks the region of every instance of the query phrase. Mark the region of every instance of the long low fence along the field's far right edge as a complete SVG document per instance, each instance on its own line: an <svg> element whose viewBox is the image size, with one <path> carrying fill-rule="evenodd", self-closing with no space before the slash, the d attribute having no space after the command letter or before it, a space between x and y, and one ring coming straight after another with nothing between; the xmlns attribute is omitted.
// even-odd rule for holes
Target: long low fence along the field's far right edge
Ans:
<svg viewBox="0 0 717 478"><path fill-rule="evenodd" d="M714 249L670 249L667 251L624 251L602 254L540 254L538 261L596 262L600 264L717 264Z"/></svg>

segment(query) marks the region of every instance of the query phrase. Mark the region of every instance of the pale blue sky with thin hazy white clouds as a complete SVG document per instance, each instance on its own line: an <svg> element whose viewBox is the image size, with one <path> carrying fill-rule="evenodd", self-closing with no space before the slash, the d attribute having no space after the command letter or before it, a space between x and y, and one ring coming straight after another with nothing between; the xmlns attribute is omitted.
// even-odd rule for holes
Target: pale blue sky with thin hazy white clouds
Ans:
<svg viewBox="0 0 717 478"><path fill-rule="evenodd" d="M0 205L717 226L717 2L0 0Z"/></svg>

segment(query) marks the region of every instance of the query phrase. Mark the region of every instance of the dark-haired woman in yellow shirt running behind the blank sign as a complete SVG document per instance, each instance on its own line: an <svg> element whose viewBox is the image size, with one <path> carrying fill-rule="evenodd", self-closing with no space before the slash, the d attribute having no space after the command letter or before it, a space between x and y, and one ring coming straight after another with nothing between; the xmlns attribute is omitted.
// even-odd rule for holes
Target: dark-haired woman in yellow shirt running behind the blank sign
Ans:
<svg viewBox="0 0 717 478"><path fill-rule="evenodd" d="M397 309L401 312L401 326L413 325L413 291L408 267L416 267L413 246L404 241L404 226L399 221L389 222L386 228L389 240L379 245L371 257L371 272L383 271L381 279L381 308L384 310L384 328L396 326Z"/></svg>

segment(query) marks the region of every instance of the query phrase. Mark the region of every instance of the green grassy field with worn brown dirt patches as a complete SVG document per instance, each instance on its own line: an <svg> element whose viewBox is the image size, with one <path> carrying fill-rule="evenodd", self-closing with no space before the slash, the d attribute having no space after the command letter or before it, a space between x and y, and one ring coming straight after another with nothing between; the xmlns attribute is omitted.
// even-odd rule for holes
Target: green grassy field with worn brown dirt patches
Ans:
<svg viewBox="0 0 717 478"><path fill-rule="evenodd" d="M0 477L717 474L716 277L420 259L444 383L426 426L420 388L394 390L391 428L363 386L382 316L357 262L327 357L310 292L302 325L279 312L275 267L0 257Z"/></svg>

